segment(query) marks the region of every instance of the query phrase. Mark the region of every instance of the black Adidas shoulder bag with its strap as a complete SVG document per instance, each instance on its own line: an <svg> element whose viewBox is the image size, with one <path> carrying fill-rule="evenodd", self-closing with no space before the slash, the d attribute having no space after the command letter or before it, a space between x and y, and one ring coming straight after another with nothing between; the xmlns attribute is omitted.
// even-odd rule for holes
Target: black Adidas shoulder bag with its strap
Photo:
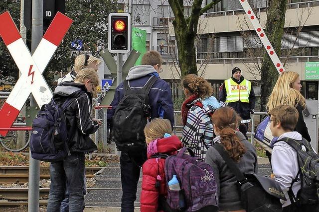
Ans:
<svg viewBox="0 0 319 212"><path fill-rule="evenodd" d="M286 200L279 184L272 178L257 174L243 174L224 146L216 143L213 147L225 160L228 168L237 178L237 190L246 212L281 212L281 200Z"/></svg>

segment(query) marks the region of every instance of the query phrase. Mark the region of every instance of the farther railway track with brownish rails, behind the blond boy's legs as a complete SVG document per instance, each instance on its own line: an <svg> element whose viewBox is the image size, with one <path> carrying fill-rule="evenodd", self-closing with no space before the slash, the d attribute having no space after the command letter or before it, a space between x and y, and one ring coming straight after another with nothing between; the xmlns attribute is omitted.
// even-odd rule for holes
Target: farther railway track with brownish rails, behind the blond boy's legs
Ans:
<svg viewBox="0 0 319 212"><path fill-rule="evenodd" d="M86 167L86 177L92 178L103 167ZM28 182L28 166L0 166L0 184ZM49 167L40 167L40 180L50 179Z"/></svg>

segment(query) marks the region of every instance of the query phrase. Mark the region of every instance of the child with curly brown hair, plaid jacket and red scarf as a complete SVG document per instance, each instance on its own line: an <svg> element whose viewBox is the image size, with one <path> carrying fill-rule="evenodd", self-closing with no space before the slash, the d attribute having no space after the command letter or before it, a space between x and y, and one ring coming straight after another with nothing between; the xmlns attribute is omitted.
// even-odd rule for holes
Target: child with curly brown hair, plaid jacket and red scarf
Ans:
<svg viewBox="0 0 319 212"><path fill-rule="evenodd" d="M213 124L209 113L220 107L212 96L213 89L203 77L188 74L183 81L185 101L181 108L183 122L182 143L189 147L198 158L205 158L207 149L214 138Z"/></svg>

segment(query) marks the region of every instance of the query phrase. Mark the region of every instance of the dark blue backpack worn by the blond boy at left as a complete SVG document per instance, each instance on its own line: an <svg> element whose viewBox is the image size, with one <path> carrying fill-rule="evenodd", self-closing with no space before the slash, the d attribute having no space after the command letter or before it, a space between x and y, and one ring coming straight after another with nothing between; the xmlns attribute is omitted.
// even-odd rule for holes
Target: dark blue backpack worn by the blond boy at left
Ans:
<svg viewBox="0 0 319 212"><path fill-rule="evenodd" d="M30 150L33 159L45 162L56 162L71 155L68 147L68 133L64 110L72 102L68 98L57 105L52 99L42 106L37 117L32 121Z"/></svg>

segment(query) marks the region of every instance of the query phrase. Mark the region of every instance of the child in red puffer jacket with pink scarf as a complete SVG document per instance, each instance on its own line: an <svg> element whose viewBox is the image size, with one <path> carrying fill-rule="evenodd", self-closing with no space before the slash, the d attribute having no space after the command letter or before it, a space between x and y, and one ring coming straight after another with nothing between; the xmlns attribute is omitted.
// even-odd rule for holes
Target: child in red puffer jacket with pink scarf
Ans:
<svg viewBox="0 0 319 212"><path fill-rule="evenodd" d="M153 119L144 129L148 144L148 160L143 164L141 212L164 212L167 185L165 179L165 158L176 154L182 147L172 133L169 120Z"/></svg>

